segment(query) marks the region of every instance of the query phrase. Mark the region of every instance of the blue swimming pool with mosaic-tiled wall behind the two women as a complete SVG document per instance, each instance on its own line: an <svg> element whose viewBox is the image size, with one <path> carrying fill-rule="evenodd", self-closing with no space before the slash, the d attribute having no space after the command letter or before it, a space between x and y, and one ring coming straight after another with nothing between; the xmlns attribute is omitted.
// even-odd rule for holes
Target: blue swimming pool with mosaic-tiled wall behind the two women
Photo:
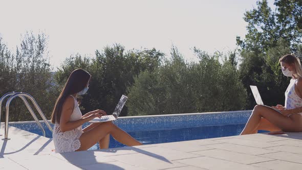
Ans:
<svg viewBox="0 0 302 170"><path fill-rule="evenodd" d="M156 116L121 117L114 123L143 144L166 143L195 139L207 139L239 135L247 122L251 111L213 112L174 114ZM34 121L12 122L11 126L42 135ZM52 133L42 123L46 137ZM53 124L51 124L53 125ZM89 123L83 124L83 128ZM110 139L109 147L121 147L123 144ZM90 150L98 149L96 144Z"/></svg>

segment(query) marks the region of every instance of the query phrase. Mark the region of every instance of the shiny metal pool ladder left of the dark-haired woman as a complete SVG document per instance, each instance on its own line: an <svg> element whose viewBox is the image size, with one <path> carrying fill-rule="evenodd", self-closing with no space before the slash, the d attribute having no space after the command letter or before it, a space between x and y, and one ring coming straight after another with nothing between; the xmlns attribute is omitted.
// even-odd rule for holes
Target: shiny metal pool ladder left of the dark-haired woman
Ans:
<svg viewBox="0 0 302 170"><path fill-rule="evenodd" d="M9 97L10 96L10 97ZM30 99L34 105L34 107L36 108L36 110L38 111L38 113L40 114L41 118L44 120L44 122L46 123L46 125L48 126L49 130L52 132L52 127L49 124L48 120L46 119L45 115L43 114L43 112L41 111L39 105L37 104L36 100L29 95L28 93L23 93L23 92L10 92L10 93L6 93L5 95L3 95L0 98L0 122L1 122L1 111L2 111L2 102L5 98L9 97L9 99L6 102L5 105L5 135L4 138L2 140L10 140L8 138L8 116L9 116L9 105L11 103L11 101L16 98L19 97L23 100L24 104L26 105L28 111L30 112L30 114L32 115L32 117L35 119L36 123L38 124L38 126L40 127L40 129L42 130L43 135L45 136L45 130L42 127L42 124L40 123L39 119L37 118L37 116L35 115L34 111L32 110L32 108L30 107L29 103L27 102L27 99ZM2 136L2 135L0 135Z"/></svg>

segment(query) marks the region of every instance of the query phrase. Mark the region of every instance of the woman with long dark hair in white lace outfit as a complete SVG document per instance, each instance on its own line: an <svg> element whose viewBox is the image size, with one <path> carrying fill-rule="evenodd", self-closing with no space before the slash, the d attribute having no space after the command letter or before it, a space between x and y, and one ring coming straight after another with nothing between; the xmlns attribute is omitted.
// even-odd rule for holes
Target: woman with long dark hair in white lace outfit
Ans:
<svg viewBox="0 0 302 170"><path fill-rule="evenodd" d="M55 152L85 151L97 142L100 148L108 148L110 135L128 146L142 145L111 121L92 123L82 130L83 123L106 115L102 110L95 110L82 116L79 109L76 96L87 92L90 77L83 69L74 70L56 101L51 117L52 123L55 124L53 129Z"/></svg>

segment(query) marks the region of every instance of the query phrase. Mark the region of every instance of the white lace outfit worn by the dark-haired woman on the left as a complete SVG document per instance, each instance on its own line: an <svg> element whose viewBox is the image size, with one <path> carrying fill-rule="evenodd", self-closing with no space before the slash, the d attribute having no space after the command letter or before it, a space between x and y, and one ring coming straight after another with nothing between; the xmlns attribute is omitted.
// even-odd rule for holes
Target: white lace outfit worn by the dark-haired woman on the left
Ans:
<svg viewBox="0 0 302 170"><path fill-rule="evenodd" d="M79 104L77 100L74 98L74 109L70 117L70 121L79 120L81 117L82 117L82 113L79 109ZM74 130L62 132L60 129L60 125L56 122L52 134L53 142L55 145L55 152L63 153L63 152L73 152L78 150L81 146L81 142L79 138L82 135L82 133L83 133L82 125Z"/></svg>

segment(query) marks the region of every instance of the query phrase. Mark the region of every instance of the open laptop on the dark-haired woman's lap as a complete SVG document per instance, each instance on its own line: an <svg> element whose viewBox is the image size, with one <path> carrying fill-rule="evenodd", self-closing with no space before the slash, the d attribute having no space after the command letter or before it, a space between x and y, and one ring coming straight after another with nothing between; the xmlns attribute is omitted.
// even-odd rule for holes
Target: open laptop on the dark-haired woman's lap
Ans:
<svg viewBox="0 0 302 170"><path fill-rule="evenodd" d="M113 112L112 115L106 115L106 116L102 116L101 118L94 118L92 120L90 120L90 123L99 123L99 122L106 122L106 121L114 121L118 118L118 116L120 115L124 104L126 103L128 97L122 95L122 97L120 98L119 102L117 103L115 110Z"/></svg>

